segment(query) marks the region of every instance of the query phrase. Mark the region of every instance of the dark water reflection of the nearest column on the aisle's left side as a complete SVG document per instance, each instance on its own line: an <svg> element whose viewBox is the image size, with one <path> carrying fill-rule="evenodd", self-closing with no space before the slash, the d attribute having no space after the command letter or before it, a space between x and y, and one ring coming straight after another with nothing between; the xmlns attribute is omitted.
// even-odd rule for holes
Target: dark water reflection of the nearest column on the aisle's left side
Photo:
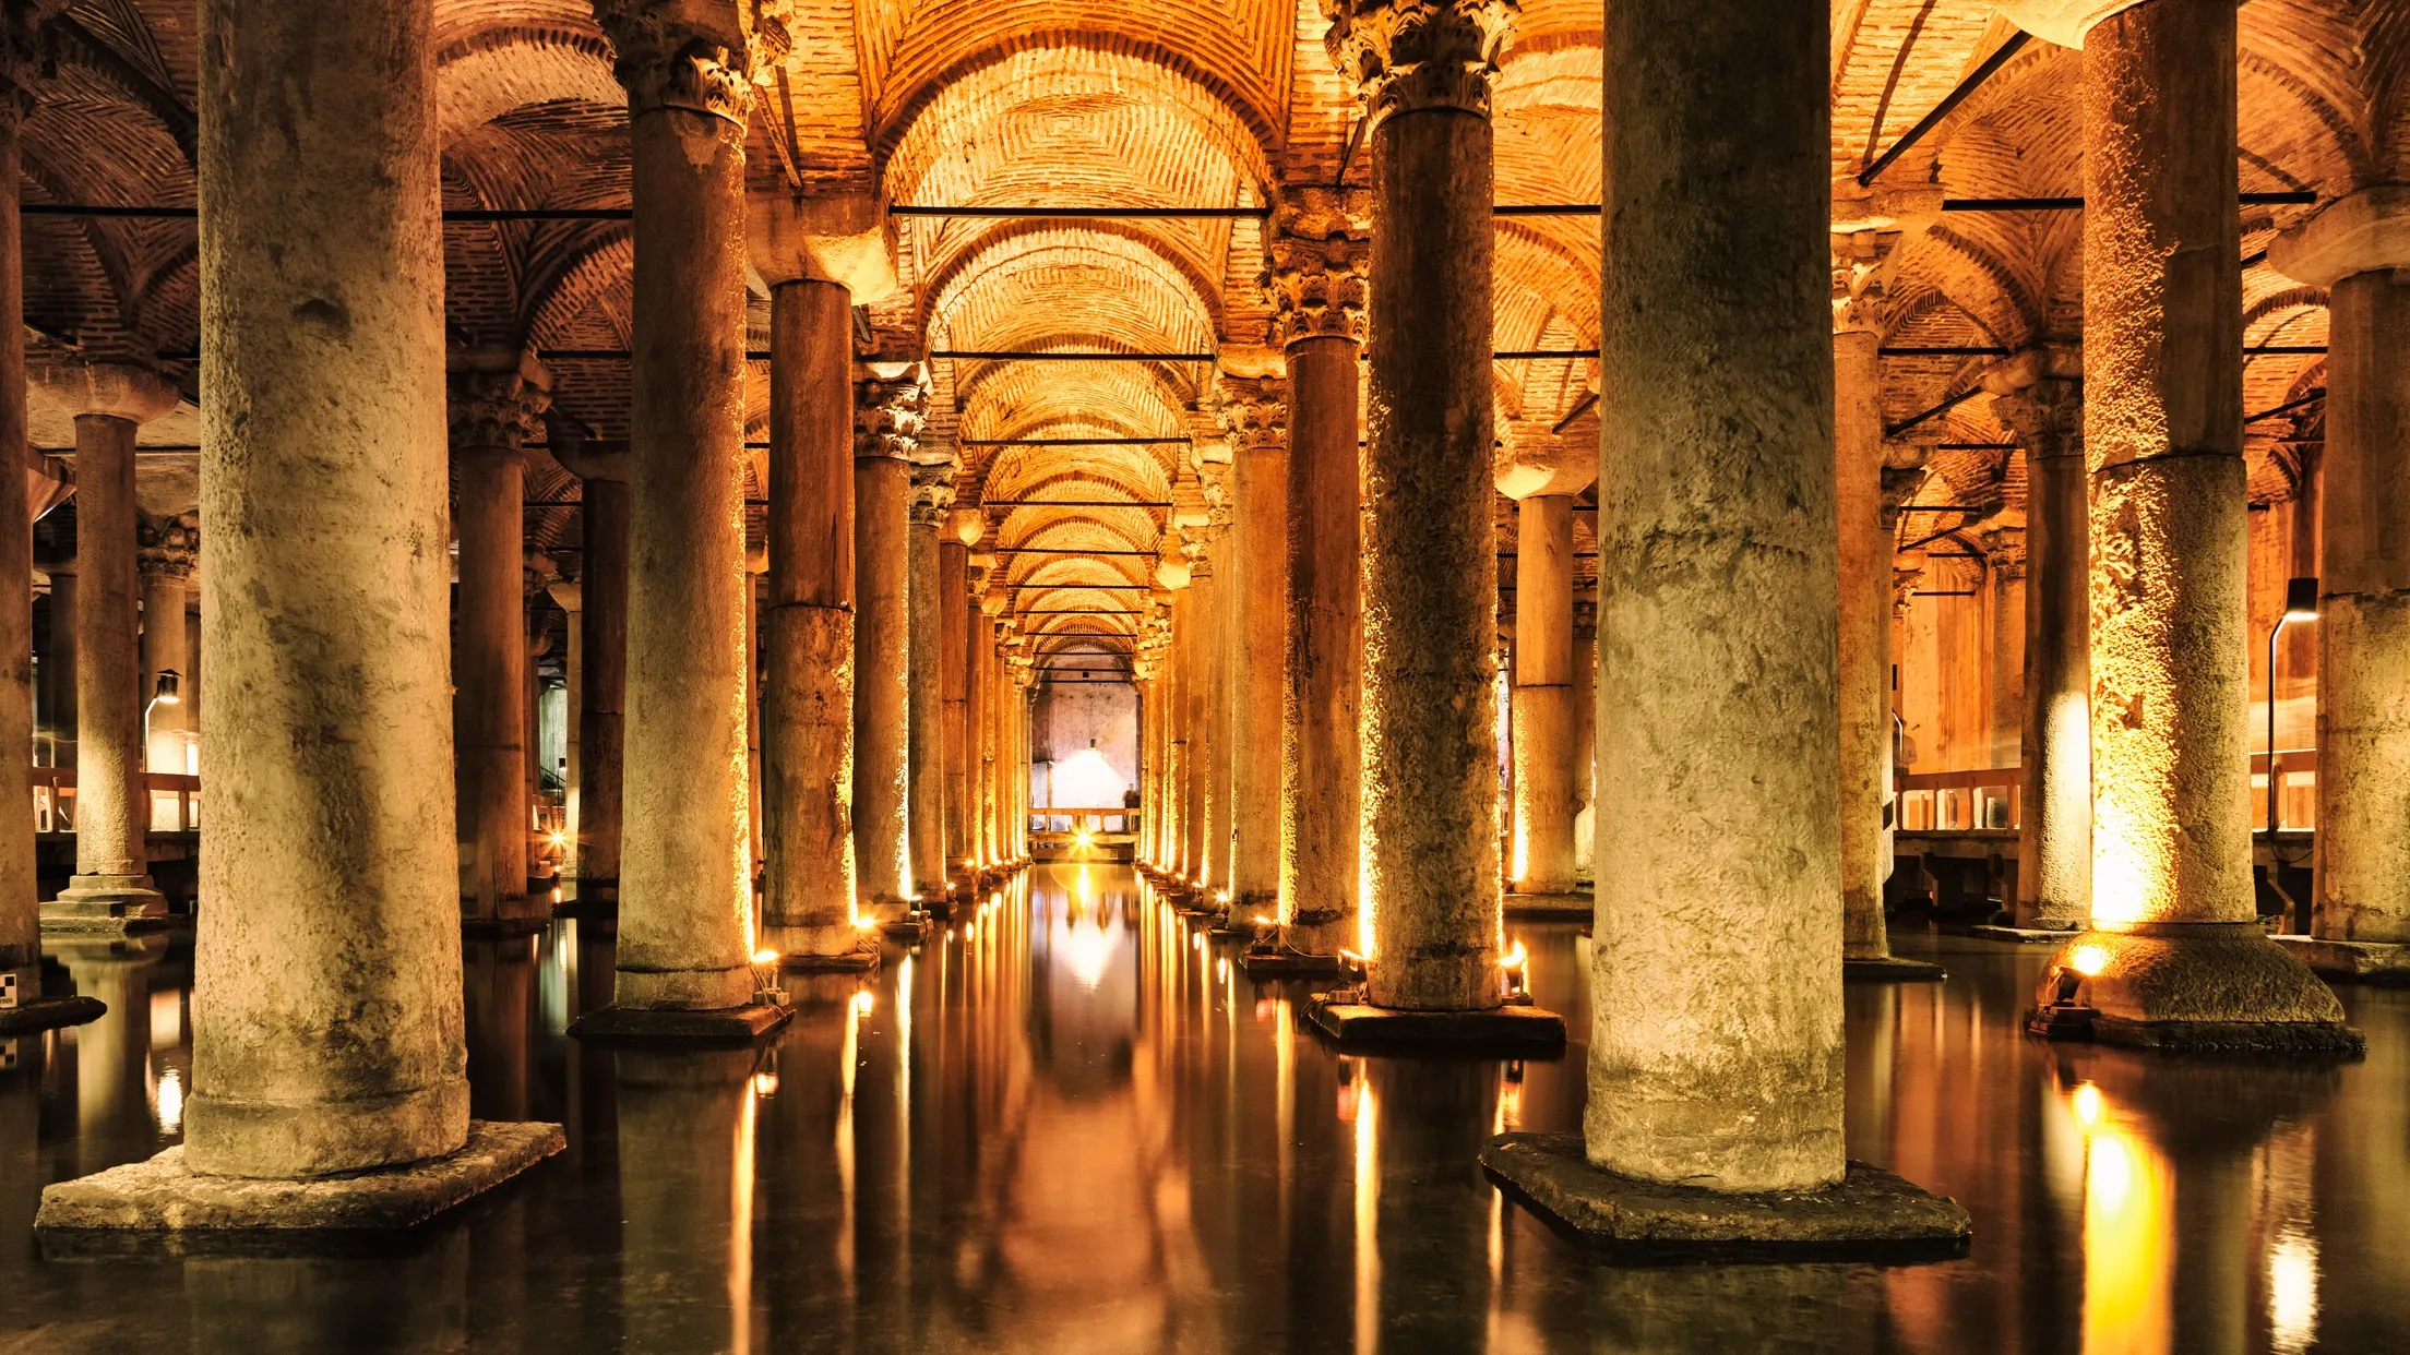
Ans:
<svg viewBox="0 0 2410 1355"><path fill-rule="evenodd" d="M619 1326L629 1350L752 1348L750 1049L619 1063Z"/></svg>

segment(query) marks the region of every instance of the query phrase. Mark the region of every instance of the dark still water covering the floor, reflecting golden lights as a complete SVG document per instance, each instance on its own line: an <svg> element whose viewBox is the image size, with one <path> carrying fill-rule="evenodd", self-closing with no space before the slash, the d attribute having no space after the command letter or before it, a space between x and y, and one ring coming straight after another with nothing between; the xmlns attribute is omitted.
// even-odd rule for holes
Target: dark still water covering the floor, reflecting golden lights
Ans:
<svg viewBox="0 0 2410 1355"><path fill-rule="evenodd" d="M2142 1061L2017 1034L2039 950L1911 938L1950 981L1851 991L1851 1152L1974 1254L1615 1271L1473 1165L1581 1124L1588 943L1509 931L1559 1063L1340 1058L1104 866L759 1054L583 1049L607 938L472 943L477 1114L569 1152L347 1259L41 1259L41 1186L174 1143L190 1083L188 955L58 948L111 1015L0 1070L0 1350L2410 1350L2410 993L2345 993L2359 1066Z"/></svg>

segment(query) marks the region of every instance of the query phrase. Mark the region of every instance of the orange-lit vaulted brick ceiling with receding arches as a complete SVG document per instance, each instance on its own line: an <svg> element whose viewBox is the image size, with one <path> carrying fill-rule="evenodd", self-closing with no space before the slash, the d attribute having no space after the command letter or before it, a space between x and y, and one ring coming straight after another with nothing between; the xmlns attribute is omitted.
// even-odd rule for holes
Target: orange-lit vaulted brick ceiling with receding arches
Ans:
<svg viewBox="0 0 2410 1355"><path fill-rule="evenodd" d="M1318 0L795 0L790 63L762 92L754 188L882 190L894 203L1248 207L1285 181L1362 183L1357 111L1323 53ZM1923 118L2010 29L1981 0L1834 0L1832 164L1851 174ZM27 203L186 205L195 200L193 0L77 0L55 80L27 123ZM1595 203L1600 0L1526 0L1497 92L1499 203ZM2386 0L2251 0L2241 7L2241 186L2340 195L2410 174L2410 7ZM583 0L439 0L439 121L451 207L617 207L627 203L627 118L610 48ZM2080 190L2080 55L2029 43L1885 183L1938 181L1950 195ZM1345 166L1345 169L1342 169ZM2306 207L2251 207L2244 253ZM2022 347L2080 333L2075 212L1952 212L1901 256L1894 345ZM897 297L865 309L868 342L925 350L1212 352L1260 345L1256 219L1012 222L911 217L899 229ZM188 222L27 222L27 321L36 357L80 345L152 359L198 345ZM622 350L629 340L627 227L619 222L453 224L446 313L470 342ZM2323 297L2265 265L2246 268L2246 338L2321 345ZM766 311L757 306L757 325ZM754 340L766 335L754 333ZM1499 224L1497 347L1583 350L1598 340L1598 224ZM764 342L757 342L764 347ZM1892 420L1964 391L1979 357L1885 364ZM198 371L174 357L186 391ZM605 434L627 422L627 369L559 359L557 403ZM306 374L294 374L306 381ZM1501 420L1557 422L1593 383L1588 359L1499 362ZM928 436L957 446L964 499L1195 501L1186 444L998 448L1031 436L1210 436L1203 362L937 362ZM2246 398L2273 407L2323 381L2316 357L2253 357ZM766 381L752 391L754 436ZM145 429L188 444L186 415ZM1569 429L1588 432L1588 422ZM1969 400L1933 441L1998 444ZM2251 427L2253 494L2290 494L2287 420ZM65 422L34 410L39 446ZM174 458L159 458L171 465ZM1928 501L1988 485L2022 501L2017 458L1947 451ZM188 473L188 468L186 468ZM530 458L533 497L574 482ZM1005 545L1147 550L1159 509L993 514ZM540 542L574 545L576 514L537 511ZM1024 605L1118 605L1138 557L1012 557ZM1121 600L1128 593L1118 593ZM1118 620L1106 629L1128 629ZM1094 629L1065 617L1051 629Z"/></svg>

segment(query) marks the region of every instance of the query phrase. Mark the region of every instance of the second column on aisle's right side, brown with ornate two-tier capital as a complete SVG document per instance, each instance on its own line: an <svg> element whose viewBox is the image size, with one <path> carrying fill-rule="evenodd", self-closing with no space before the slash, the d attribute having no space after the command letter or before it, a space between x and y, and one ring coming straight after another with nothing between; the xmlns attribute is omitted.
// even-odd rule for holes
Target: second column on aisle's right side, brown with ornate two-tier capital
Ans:
<svg viewBox="0 0 2410 1355"><path fill-rule="evenodd" d="M1280 943L1366 950L1357 916L1357 352L1369 268L1364 193L1289 188L1272 222L1272 335L1289 359L1287 690L1280 704Z"/></svg>

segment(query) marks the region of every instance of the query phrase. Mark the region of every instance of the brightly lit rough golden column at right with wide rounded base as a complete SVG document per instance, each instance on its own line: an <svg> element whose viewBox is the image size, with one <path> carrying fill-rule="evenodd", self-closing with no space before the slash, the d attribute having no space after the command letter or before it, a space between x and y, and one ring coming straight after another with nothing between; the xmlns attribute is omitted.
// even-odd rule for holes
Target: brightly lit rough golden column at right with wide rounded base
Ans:
<svg viewBox="0 0 2410 1355"><path fill-rule="evenodd" d="M2357 1049L2251 890L2234 7L2085 17L2094 931L2041 1001L2157 1049Z"/></svg>

